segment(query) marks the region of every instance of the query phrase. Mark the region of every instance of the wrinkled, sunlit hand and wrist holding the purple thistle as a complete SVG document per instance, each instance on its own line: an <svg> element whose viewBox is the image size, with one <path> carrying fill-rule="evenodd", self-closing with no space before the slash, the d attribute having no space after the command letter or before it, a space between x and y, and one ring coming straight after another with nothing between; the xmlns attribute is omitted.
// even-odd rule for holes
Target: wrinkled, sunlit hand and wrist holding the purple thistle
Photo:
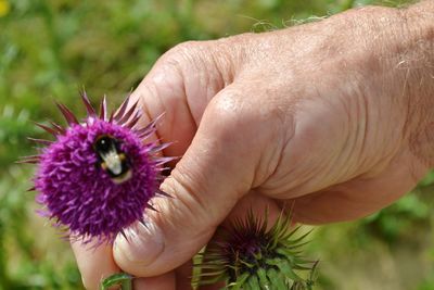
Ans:
<svg viewBox="0 0 434 290"><path fill-rule="evenodd" d="M412 189L433 162L433 1L363 8L164 54L132 96L144 124L166 113L154 138L182 156L162 185L174 199L129 242L74 243L85 286L122 269L148 277L135 289L191 289L191 257L251 206L323 224Z"/></svg>

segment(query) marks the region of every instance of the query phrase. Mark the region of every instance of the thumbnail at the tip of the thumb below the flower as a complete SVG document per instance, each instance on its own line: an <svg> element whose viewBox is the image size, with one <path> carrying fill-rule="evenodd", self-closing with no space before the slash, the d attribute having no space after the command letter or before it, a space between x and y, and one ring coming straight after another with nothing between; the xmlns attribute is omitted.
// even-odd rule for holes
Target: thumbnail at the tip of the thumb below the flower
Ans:
<svg viewBox="0 0 434 290"><path fill-rule="evenodd" d="M128 263L148 266L164 250L163 234L153 223L138 224L127 229L126 236L118 235L114 243L114 257L120 267Z"/></svg>

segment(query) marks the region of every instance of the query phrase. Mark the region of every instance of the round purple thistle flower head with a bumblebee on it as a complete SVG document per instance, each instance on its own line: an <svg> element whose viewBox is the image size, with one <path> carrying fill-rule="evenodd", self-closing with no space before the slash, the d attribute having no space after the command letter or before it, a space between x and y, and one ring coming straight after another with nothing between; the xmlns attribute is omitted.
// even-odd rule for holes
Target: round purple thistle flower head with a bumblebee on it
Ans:
<svg viewBox="0 0 434 290"><path fill-rule="evenodd" d="M155 131L158 118L139 128L141 112L137 103L128 109L129 98L110 117L105 97L99 114L86 92L81 99L87 117L80 123L65 105L58 104L68 127L37 124L56 140L29 138L47 147L20 162L38 165L30 190L39 191L36 200L55 226L85 242L112 242L117 234L125 236L127 227L144 223L144 210L152 209L150 200L165 194L158 190L161 165L171 159L155 156L168 143L142 142Z"/></svg>

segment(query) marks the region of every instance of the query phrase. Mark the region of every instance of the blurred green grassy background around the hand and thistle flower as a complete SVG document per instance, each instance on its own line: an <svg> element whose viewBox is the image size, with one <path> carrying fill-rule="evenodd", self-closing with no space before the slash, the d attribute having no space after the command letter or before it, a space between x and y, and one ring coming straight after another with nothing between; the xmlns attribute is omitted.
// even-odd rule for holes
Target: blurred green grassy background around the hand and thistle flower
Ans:
<svg viewBox="0 0 434 290"><path fill-rule="evenodd" d="M31 121L61 122L54 100L77 111L85 86L119 103L155 60L190 39L282 28L371 4L332 0L0 0L0 290L80 289L67 242L35 214ZM386 5L397 1L375 2ZM81 110L81 109L79 109ZM355 223L319 227L317 289L434 290L434 175L390 207Z"/></svg>

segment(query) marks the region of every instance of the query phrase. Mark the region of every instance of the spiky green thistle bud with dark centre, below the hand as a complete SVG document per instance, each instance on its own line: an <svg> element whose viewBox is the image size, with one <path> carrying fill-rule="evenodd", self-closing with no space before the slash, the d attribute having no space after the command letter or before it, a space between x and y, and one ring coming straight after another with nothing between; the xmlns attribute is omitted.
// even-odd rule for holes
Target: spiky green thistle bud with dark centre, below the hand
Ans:
<svg viewBox="0 0 434 290"><path fill-rule="evenodd" d="M281 214L268 229L265 218L251 211L228 228L217 230L196 267L194 286L225 282L237 290L309 290L317 262L303 255L310 231L290 230L291 217Z"/></svg>

